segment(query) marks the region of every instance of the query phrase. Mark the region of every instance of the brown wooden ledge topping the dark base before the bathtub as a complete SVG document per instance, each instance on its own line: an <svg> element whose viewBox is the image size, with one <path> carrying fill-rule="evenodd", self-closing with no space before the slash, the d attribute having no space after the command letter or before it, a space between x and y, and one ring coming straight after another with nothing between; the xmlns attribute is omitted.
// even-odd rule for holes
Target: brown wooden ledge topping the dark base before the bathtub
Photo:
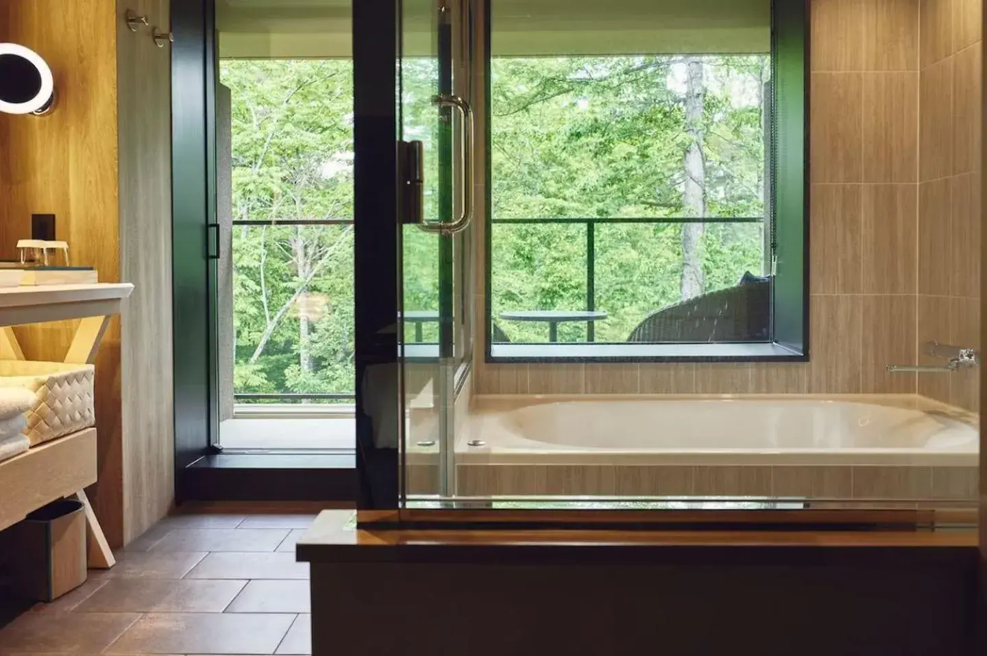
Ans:
<svg viewBox="0 0 987 656"><path fill-rule="evenodd" d="M976 532L667 530L346 530L322 513L298 560L339 562L839 564L973 562Z"/></svg>

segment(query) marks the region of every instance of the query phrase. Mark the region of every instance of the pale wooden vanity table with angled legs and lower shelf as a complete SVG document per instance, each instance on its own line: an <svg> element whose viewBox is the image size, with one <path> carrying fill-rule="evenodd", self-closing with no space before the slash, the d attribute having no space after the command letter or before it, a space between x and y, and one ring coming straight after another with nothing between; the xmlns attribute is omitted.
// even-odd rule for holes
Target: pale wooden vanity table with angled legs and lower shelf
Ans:
<svg viewBox="0 0 987 656"><path fill-rule="evenodd" d="M93 364L100 340L133 285L45 285L0 289L0 358L24 359L13 326L80 319L64 361ZM86 512L89 566L114 565L85 487L97 481L96 428L45 442L0 463L0 531L56 499L75 496Z"/></svg>

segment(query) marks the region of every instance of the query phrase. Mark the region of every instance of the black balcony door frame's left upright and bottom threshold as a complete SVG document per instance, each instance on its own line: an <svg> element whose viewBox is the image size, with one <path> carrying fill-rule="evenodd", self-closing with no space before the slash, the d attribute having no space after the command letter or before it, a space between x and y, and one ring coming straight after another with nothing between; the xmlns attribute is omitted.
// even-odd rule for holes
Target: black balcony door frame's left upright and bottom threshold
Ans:
<svg viewBox="0 0 987 656"><path fill-rule="evenodd" d="M215 1L172 0L175 498L351 502L352 455L218 446Z"/></svg>

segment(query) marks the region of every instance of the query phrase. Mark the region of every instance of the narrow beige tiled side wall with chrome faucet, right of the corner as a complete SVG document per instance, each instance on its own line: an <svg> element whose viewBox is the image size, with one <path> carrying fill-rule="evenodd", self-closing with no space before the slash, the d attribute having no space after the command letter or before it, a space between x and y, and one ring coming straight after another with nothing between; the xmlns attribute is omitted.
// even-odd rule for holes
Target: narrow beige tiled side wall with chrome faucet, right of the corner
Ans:
<svg viewBox="0 0 987 656"><path fill-rule="evenodd" d="M918 346L979 348L982 0L922 0L919 13ZM979 372L920 374L919 392L979 406Z"/></svg>

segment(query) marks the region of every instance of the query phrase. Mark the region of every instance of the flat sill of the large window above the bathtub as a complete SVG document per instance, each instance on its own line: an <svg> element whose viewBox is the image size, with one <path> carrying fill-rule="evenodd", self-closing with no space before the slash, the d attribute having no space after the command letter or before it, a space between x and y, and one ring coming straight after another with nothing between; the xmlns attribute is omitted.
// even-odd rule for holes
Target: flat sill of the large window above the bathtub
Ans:
<svg viewBox="0 0 987 656"><path fill-rule="evenodd" d="M771 342L701 344L492 344L490 363L806 362L805 353Z"/></svg>

